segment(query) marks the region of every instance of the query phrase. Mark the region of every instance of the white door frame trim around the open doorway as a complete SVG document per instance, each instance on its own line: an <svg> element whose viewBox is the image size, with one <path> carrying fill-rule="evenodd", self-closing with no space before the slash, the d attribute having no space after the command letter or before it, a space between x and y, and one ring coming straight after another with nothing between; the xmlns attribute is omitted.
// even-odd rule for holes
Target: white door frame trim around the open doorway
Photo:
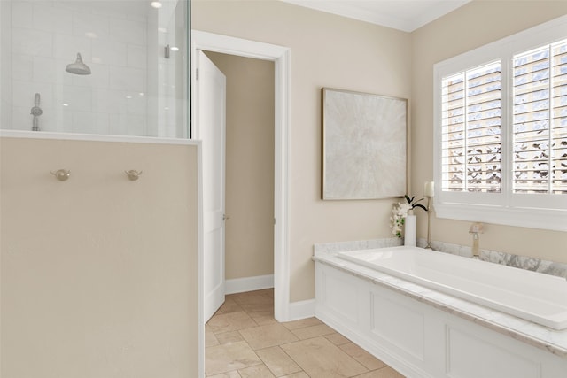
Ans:
<svg viewBox="0 0 567 378"><path fill-rule="evenodd" d="M274 62L275 135L274 135L274 316L290 320L289 255L289 158L291 115L291 50L275 44L249 41L228 35L191 30L191 60L198 50L209 50L245 58ZM194 61L194 60L193 60ZM195 70L191 68L191 108L196 94ZM192 112L191 112L192 113ZM192 120L191 120L192 121ZM203 324L203 246L202 229L198 246L199 295L199 375L204 376L205 326Z"/></svg>

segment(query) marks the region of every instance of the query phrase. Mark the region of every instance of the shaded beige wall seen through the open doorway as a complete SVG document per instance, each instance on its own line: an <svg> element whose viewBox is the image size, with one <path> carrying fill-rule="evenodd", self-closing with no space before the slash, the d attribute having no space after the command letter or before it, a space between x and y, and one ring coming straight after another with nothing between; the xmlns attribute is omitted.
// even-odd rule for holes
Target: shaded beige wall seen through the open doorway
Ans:
<svg viewBox="0 0 567 378"><path fill-rule="evenodd" d="M225 277L274 274L274 62L206 55L227 77Z"/></svg>

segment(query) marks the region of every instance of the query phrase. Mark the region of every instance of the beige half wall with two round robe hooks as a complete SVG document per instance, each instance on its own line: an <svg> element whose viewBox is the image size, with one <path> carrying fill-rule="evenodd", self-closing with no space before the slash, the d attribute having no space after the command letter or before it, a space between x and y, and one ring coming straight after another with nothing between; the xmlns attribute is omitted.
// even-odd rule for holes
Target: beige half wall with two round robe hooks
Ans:
<svg viewBox="0 0 567 378"><path fill-rule="evenodd" d="M0 375L196 377L197 147L3 137L0 150Z"/></svg>

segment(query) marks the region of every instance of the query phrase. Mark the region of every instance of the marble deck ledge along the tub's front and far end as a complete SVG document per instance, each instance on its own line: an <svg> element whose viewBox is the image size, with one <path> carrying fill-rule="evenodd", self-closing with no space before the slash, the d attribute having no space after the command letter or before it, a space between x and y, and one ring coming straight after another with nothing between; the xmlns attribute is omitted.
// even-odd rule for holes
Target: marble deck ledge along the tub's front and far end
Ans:
<svg viewBox="0 0 567 378"><path fill-rule="evenodd" d="M392 289L406 297L450 312L462 319L470 320L502 335L549 351L567 359L567 329L557 331L523 320L507 313L476 305L466 300L425 288L389 274L338 258L339 251L356 251L369 248L384 248L400 245L399 239L365 241L354 243L315 244L313 259L325 265L334 266L348 274ZM561 272L561 266L560 266ZM560 274L556 274L560 275Z"/></svg>

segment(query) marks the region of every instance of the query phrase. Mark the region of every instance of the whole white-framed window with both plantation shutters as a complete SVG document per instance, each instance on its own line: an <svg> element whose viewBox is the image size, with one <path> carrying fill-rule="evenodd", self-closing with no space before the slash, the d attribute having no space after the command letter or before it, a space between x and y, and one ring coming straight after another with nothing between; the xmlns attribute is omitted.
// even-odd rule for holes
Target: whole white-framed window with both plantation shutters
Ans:
<svg viewBox="0 0 567 378"><path fill-rule="evenodd" d="M567 231L567 17L434 74L438 216Z"/></svg>

